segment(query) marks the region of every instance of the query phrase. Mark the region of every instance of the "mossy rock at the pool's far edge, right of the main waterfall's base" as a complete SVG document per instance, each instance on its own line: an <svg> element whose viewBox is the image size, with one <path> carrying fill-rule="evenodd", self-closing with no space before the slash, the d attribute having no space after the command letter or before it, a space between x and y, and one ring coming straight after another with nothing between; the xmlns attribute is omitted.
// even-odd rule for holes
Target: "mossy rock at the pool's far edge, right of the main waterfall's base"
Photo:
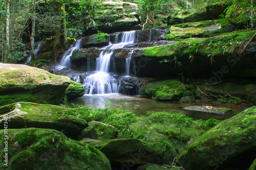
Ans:
<svg viewBox="0 0 256 170"><path fill-rule="evenodd" d="M179 80L166 80L142 86L139 93L146 98L159 101L179 101L183 91L189 88L193 88L193 86L186 86Z"/></svg>

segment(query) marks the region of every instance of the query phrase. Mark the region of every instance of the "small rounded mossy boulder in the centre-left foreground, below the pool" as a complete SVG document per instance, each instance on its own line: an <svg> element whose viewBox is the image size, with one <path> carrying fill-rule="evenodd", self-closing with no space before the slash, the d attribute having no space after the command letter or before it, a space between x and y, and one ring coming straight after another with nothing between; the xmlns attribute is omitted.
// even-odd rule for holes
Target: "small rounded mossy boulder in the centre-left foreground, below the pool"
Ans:
<svg viewBox="0 0 256 170"><path fill-rule="evenodd" d="M88 124L95 129L99 140L115 139L118 135L118 129L112 125L96 121L91 121Z"/></svg>

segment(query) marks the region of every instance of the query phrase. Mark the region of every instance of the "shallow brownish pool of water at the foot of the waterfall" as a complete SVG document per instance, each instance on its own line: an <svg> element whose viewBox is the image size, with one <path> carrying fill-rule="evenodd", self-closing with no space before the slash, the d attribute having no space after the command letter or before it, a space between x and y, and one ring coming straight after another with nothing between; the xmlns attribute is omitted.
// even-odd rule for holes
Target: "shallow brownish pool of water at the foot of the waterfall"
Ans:
<svg viewBox="0 0 256 170"><path fill-rule="evenodd" d="M69 102L69 106L72 104L79 104L89 106L95 109L104 108L106 103L111 102L111 108L123 108L125 110L131 110L136 114L146 114L147 112L182 112L189 117L194 119L208 119L216 118L224 120L237 113L243 111L246 108L218 105L218 104L206 104L206 103L180 103L180 102L159 102L152 99L144 98L143 96L128 96L122 94L94 94L94 95L83 95L81 98L77 98ZM216 106L216 107L228 107L234 112L229 115L218 115L212 113L205 113L200 111L192 111L183 109L186 106Z"/></svg>

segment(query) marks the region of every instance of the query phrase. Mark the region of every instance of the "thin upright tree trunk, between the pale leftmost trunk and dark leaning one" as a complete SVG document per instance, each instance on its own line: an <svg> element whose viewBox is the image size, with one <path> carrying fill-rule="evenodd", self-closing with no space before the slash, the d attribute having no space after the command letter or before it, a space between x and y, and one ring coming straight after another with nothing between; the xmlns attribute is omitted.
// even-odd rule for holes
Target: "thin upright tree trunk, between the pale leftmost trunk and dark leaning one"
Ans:
<svg viewBox="0 0 256 170"><path fill-rule="evenodd" d="M31 13L32 13L32 30L30 35L30 45L31 45L31 60L35 60L35 2L36 0L31 0Z"/></svg>

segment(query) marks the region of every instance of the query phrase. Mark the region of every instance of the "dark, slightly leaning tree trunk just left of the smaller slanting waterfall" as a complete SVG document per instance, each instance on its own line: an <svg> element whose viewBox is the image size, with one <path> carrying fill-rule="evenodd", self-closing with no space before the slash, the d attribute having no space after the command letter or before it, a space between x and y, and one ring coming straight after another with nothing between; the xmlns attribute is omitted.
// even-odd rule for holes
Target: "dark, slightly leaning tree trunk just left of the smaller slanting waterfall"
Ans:
<svg viewBox="0 0 256 170"><path fill-rule="evenodd" d="M58 54L59 54L59 47L60 47L60 31L61 31L61 13L62 13L62 5L64 2L59 2L58 6L58 14L57 14L57 26L55 28L55 38L53 43L53 58L55 63L57 62Z"/></svg>

